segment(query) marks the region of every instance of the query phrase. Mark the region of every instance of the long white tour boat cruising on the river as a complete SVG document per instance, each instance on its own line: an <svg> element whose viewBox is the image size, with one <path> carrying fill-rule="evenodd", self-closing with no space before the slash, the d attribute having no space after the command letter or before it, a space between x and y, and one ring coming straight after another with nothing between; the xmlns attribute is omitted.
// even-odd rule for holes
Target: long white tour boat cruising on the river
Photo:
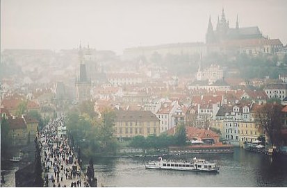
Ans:
<svg viewBox="0 0 287 188"><path fill-rule="evenodd" d="M171 162L158 157L158 162L149 162L146 169L163 169L177 171L213 171L219 170L218 164L206 160L193 158L193 162Z"/></svg>

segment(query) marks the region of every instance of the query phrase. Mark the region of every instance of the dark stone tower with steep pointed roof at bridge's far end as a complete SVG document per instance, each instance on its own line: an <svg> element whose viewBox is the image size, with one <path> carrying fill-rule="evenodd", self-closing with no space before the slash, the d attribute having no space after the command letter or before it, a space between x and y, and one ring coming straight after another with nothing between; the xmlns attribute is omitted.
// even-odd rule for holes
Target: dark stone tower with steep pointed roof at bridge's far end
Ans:
<svg viewBox="0 0 287 188"><path fill-rule="evenodd" d="M76 76L76 100L86 101L90 99L90 85L91 82L87 76L87 70L85 67L85 61L83 58L83 51L81 49L81 44L79 48L79 62L80 62L80 72L79 76Z"/></svg>

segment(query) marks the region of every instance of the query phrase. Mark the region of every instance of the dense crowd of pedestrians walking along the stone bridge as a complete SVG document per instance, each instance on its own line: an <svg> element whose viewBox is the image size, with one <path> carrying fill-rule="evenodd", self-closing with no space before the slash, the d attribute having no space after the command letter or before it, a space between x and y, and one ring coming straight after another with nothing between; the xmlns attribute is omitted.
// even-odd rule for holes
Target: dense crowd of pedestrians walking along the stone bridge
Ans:
<svg viewBox="0 0 287 188"><path fill-rule="evenodd" d="M63 126L63 123L63 117L50 121L38 135L45 174L44 187L82 186L81 169L69 147L69 138L57 133L58 126ZM88 187L85 180L83 186Z"/></svg>

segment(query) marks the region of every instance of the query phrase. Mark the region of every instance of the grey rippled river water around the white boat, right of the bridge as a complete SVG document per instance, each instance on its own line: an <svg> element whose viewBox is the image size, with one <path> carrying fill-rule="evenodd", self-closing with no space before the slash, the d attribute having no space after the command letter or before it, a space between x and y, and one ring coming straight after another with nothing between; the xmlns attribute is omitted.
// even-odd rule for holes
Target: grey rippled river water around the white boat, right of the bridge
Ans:
<svg viewBox="0 0 287 188"><path fill-rule="evenodd" d="M170 159L192 157L217 162L219 173L145 169L146 162L158 157L133 157L95 159L95 176L99 187L287 187L287 157L234 148L234 153L177 155Z"/></svg>

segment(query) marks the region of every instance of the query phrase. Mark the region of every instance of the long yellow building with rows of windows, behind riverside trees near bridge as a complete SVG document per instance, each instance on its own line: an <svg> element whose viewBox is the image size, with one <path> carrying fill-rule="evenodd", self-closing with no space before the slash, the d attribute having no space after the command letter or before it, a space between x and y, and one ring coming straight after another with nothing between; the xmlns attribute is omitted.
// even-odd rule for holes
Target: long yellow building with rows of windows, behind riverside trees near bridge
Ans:
<svg viewBox="0 0 287 188"><path fill-rule="evenodd" d="M159 134L160 120L149 111L118 110L115 114L115 137L117 138Z"/></svg>

